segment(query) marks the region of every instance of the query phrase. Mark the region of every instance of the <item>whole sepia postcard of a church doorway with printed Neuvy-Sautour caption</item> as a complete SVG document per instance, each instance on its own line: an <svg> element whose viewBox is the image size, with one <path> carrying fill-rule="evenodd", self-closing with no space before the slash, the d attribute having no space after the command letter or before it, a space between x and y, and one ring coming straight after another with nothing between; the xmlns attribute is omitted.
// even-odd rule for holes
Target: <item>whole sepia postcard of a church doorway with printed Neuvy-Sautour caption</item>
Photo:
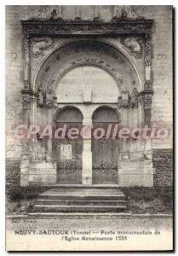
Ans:
<svg viewBox="0 0 178 256"><path fill-rule="evenodd" d="M6 250L172 251L173 7L6 6Z"/></svg>

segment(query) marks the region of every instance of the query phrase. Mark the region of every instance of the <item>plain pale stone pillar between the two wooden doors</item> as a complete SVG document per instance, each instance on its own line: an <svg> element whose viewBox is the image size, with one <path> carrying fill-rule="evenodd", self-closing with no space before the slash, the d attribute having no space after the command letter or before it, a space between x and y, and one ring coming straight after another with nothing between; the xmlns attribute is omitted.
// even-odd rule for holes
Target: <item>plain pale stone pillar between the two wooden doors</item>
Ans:
<svg viewBox="0 0 178 256"><path fill-rule="evenodd" d="M92 119L83 119L83 184L92 184Z"/></svg>

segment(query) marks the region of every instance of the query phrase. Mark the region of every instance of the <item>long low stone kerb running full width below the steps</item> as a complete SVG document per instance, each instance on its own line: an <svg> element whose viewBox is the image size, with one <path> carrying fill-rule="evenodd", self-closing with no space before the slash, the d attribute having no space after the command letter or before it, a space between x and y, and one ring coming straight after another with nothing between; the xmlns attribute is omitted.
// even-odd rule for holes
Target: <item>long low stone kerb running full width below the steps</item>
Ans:
<svg viewBox="0 0 178 256"><path fill-rule="evenodd" d="M61 218L61 219L85 219L85 218L173 218L173 214L133 214L133 213L81 213L81 212L32 212L26 215L8 215L6 218Z"/></svg>

